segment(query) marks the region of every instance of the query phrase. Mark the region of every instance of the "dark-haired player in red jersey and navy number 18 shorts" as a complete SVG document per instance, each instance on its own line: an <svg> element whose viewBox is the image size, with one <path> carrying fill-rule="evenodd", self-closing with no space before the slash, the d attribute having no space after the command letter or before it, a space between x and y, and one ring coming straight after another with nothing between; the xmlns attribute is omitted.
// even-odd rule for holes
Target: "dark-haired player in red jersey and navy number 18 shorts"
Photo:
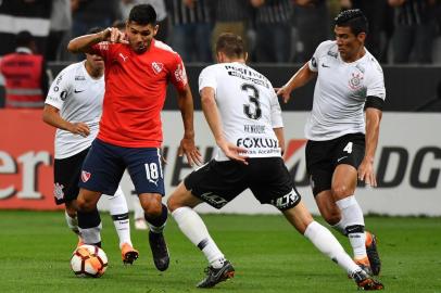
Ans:
<svg viewBox="0 0 441 293"><path fill-rule="evenodd" d="M130 11L125 34L109 27L71 40L67 49L101 55L105 64L100 131L79 180L78 226L99 229L99 221L91 220L90 214L98 215L101 194L114 194L127 168L150 224L154 264L159 270L165 270L169 256L162 233L167 208L162 204L165 192L160 148L161 111L169 81L177 90L184 122L179 154L186 154L190 165L199 165L201 154L194 146L193 100L182 61L168 46L154 39L158 28L154 9L139 4Z"/></svg>

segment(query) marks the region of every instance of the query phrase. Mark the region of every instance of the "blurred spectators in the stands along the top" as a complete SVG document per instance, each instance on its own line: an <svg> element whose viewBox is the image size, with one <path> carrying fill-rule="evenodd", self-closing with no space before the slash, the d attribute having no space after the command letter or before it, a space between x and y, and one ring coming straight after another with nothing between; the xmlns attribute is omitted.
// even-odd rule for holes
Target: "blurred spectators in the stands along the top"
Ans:
<svg viewBox="0 0 441 293"><path fill-rule="evenodd" d="M441 63L441 0L3 0L0 56L28 30L47 61L73 61L66 40L124 24L138 3L155 8L156 38L187 63L212 62L222 31L241 35L252 62L303 63L332 38L333 16L355 8L369 21L366 47L381 63Z"/></svg>

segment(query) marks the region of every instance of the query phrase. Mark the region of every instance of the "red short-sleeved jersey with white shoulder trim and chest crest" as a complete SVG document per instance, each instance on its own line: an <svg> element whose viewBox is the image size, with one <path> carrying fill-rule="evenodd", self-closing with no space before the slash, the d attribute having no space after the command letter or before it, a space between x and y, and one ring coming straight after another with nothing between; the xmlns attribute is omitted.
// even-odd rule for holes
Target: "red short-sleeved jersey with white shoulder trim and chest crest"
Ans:
<svg viewBox="0 0 441 293"><path fill-rule="evenodd" d="M126 148L160 148L161 111L168 81L184 90L182 60L165 43L152 40L148 51L128 44L101 42L92 49L105 62L105 93L98 138Z"/></svg>

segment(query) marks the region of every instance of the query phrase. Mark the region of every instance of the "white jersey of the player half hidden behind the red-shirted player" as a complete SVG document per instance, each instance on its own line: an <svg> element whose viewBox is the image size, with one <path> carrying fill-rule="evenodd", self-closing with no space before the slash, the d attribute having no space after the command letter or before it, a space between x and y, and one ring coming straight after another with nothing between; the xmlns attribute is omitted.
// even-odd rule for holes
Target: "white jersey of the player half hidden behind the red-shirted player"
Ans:
<svg viewBox="0 0 441 293"><path fill-rule="evenodd" d="M85 61L64 68L52 82L46 103L60 110L60 116L70 123L86 123L90 135L84 138L56 129L55 158L73 156L90 146L98 135L104 98L104 77L92 78Z"/></svg>

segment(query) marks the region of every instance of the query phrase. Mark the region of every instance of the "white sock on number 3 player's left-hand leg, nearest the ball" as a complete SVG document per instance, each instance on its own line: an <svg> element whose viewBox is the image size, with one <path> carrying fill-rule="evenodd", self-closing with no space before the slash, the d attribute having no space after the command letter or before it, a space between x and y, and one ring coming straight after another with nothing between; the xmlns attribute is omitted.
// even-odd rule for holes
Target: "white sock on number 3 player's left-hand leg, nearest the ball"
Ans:
<svg viewBox="0 0 441 293"><path fill-rule="evenodd" d="M172 213L172 216L182 233L202 251L214 268L219 268L224 265L224 254L210 237L201 217L192 208L187 206L176 208Z"/></svg>

